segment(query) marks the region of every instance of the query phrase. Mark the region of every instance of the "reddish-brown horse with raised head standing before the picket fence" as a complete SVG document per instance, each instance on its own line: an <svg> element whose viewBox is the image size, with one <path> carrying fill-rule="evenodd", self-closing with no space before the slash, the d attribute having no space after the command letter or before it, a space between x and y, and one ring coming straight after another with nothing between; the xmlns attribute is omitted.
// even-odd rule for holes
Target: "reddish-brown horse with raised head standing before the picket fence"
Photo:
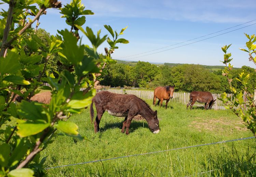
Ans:
<svg viewBox="0 0 256 177"><path fill-rule="evenodd" d="M157 105L162 106L163 100L166 100L165 103L165 108L167 108L167 104L170 101L170 98L173 97L173 92L174 92L174 87L175 85L171 86L165 86L165 87L156 87L154 90L154 100L153 100L153 105L156 103L156 98L158 98Z"/></svg>

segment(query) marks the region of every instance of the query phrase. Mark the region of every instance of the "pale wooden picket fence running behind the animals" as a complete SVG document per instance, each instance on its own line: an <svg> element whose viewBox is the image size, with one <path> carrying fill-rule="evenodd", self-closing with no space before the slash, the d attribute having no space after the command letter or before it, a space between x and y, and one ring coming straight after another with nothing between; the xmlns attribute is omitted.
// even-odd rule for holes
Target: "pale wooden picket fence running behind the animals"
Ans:
<svg viewBox="0 0 256 177"><path fill-rule="evenodd" d="M153 102L153 98L154 98L154 92L153 91L141 91L141 90L122 90L122 89L104 89L106 91L112 92L112 93L118 93L118 94L133 94L138 96L141 99L149 99L152 100ZM100 92L101 90L98 90L97 92ZM169 102L179 102L179 103L183 103L183 104L187 104L189 102L189 94L190 93L184 93L184 92L174 92L173 93L173 98L170 99ZM221 97L221 94L212 94L213 98L216 99L215 103L213 104L213 109L215 110L219 110L219 109L225 109L224 104L221 100L219 100L218 98ZM227 96L231 96L231 94L227 94ZM256 102L256 90L254 92L254 97L255 97L255 102ZM243 96L244 101L246 101L246 97L245 95ZM165 104L165 102L164 102ZM195 106L199 106L202 107L204 106L204 103L198 103L196 102L194 104Z"/></svg>

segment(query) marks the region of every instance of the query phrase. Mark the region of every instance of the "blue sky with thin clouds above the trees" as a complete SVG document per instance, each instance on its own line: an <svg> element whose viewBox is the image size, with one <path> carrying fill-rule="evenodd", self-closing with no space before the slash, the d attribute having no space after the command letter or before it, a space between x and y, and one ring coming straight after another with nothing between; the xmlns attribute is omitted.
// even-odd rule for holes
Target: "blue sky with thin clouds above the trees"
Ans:
<svg viewBox="0 0 256 177"><path fill-rule="evenodd" d="M63 0L62 4L69 2ZM256 16L252 7L255 1L253 0L82 0L82 3L86 9L95 13L95 15L86 16L84 28L88 26L95 33L101 29L101 35L103 36L108 34L103 25L110 25L117 32L128 26L122 38L126 38L130 43L119 44L119 49L112 55L114 59L126 57L123 60L222 65L219 62L223 60L221 47L232 44L229 52L232 53L234 59L231 64L234 67L247 65L256 68L252 62L248 61L247 53L239 50L239 48L244 48L247 41L243 33L255 34L256 25L180 48L144 57L136 55L255 20ZM0 5L0 7L6 8L5 5ZM48 9L47 15L40 18L40 27L51 34L56 34L57 30L69 29L65 19L60 18L60 16L59 10ZM253 23L256 23L256 21L180 45L196 42ZM83 36L82 43L89 44L85 36ZM98 51L104 52L104 47L108 47L108 44L103 43ZM136 56L127 57L130 55Z"/></svg>

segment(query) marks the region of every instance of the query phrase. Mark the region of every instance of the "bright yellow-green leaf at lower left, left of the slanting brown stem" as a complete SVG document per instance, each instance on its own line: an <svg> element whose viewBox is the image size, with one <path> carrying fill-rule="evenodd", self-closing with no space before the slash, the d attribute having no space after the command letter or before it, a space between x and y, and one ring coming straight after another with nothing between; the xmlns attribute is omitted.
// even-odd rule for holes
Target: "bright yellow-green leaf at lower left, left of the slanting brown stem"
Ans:
<svg viewBox="0 0 256 177"><path fill-rule="evenodd" d="M17 129L18 129L17 134L20 137L26 137L26 136L40 133L49 126L50 126L49 123L43 123L42 121L40 122L37 121L35 123L31 123L31 122L21 123L17 125Z"/></svg>

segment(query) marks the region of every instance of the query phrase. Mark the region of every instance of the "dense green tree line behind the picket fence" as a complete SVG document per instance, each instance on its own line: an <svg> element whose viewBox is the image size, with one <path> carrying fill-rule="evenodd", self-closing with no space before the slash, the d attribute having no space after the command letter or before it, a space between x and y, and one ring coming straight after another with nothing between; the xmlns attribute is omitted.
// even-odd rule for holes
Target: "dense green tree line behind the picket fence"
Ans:
<svg viewBox="0 0 256 177"><path fill-rule="evenodd" d="M156 86L173 85L175 91L210 91L212 93L230 93L227 78L222 76L222 67L214 67L212 71L204 65L195 64L177 64L160 65L139 61L136 65L116 63L110 64L104 68L105 75L101 77L101 84L105 86L132 86L155 88ZM254 68L242 66L242 68L233 69L230 72L230 78L233 78L233 86L237 90L242 89L241 82L235 78L241 72L250 74L248 90L253 93L256 88L256 74Z"/></svg>

